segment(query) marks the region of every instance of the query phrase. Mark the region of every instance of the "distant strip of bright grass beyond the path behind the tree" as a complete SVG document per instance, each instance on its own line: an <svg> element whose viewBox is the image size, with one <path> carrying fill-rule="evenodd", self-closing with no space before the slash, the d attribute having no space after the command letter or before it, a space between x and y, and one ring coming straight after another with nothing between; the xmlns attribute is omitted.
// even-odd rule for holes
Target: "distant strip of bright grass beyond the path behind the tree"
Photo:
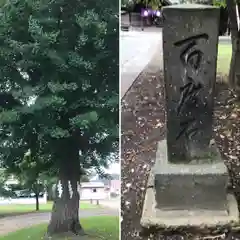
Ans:
<svg viewBox="0 0 240 240"><path fill-rule="evenodd" d="M53 202L40 204L39 212L51 212ZM80 203L80 209L97 208L99 206L87 202ZM5 216L14 216L19 214L35 212L35 204L8 204L0 205L0 218Z"/></svg>

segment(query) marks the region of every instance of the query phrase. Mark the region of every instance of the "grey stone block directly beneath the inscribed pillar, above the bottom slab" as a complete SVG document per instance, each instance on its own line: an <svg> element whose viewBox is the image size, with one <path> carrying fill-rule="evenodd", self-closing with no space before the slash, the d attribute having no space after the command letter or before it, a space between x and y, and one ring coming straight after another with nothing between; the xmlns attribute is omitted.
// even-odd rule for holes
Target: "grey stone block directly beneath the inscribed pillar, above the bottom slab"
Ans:
<svg viewBox="0 0 240 240"><path fill-rule="evenodd" d="M168 162L166 140L158 145L153 168L157 208L164 210L227 209L226 187L228 171L217 152L213 163L172 164Z"/></svg>

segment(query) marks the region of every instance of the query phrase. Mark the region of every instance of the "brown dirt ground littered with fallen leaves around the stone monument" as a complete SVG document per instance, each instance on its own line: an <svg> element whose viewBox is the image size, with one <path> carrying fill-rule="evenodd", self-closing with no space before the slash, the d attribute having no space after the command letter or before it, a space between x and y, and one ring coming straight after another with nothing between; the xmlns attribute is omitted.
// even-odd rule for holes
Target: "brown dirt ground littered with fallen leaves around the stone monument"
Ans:
<svg viewBox="0 0 240 240"><path fill-rule="evenodd" d="M140 226L147 179L154 163L157 142L165 137L164 83L158 64L160 60L157 55L154 57L122 100L121 239L213 239L204 238L198 232L143 232ZM231 188L240 199L240 104L235 93L222 83L216 88L214 135L230 171ZM216 237L214 239L240 239L240 232L226 229L219 233L216 230L211 231L210 236Z"/></svg>

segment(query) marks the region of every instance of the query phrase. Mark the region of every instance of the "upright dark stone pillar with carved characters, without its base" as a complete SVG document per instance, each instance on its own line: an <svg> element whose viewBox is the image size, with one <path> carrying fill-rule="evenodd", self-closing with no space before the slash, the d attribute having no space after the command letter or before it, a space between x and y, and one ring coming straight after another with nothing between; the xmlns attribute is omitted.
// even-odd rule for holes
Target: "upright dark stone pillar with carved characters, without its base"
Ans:
<svg viewBox="0 0 240 240"><path fill-rule="evenodd" d="M209 157L219 9L163 8L167 142L170 162Z"/></svg>

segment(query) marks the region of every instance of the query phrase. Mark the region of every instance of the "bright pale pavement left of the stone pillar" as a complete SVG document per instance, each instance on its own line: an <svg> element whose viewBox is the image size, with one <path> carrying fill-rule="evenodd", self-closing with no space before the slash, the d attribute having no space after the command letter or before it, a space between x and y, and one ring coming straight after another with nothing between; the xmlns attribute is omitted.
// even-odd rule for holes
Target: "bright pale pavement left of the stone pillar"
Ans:
<svg viewBox="0 0 240 240"><path fill-rule="evenodd" d="M158 51L162 54L161 32L120 33L121 98Z"/></svg>

